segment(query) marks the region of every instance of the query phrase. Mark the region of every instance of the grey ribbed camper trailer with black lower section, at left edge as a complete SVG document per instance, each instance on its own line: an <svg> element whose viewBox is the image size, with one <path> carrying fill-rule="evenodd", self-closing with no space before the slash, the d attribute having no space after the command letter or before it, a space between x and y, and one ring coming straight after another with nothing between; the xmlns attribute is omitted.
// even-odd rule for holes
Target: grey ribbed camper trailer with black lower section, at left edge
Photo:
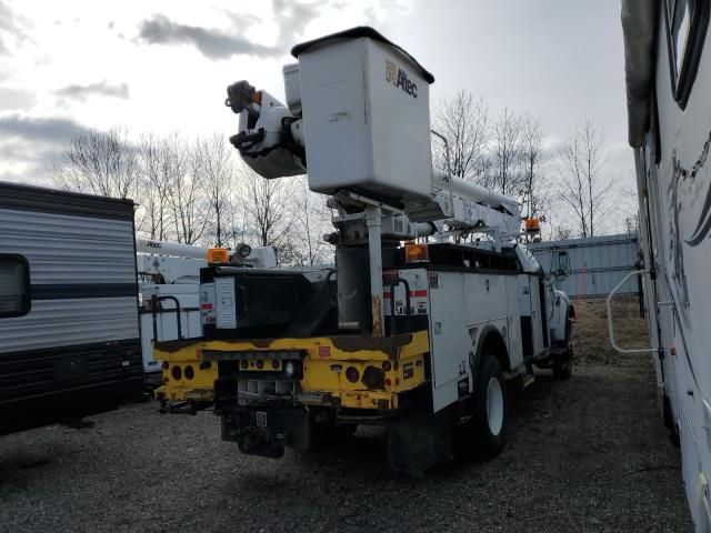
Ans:
<svg viewBox="0 0 711 533"><path fill-rule="evenodd" d="M133 202L0 183L0 433L140 398Z"/></svg>

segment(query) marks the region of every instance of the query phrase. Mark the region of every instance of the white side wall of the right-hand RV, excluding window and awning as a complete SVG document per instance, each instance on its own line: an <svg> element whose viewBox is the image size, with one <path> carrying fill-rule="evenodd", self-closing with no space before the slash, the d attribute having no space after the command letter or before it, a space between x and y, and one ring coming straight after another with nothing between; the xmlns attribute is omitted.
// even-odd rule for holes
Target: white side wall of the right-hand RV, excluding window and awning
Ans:
<svg viewBox="0 0 711 533"><path fill-rule="evenodd" d="M659 4L659 9L665 2ZM684 110L671 91L667 24L657 36L655 94L659 145L648 133L638 180L649 231L642 245L657 279L644 285L659 326L662 356L657 358L662 392L679 428L682 475L697 531L711 527L711 31ZM654 161L660 151L660 162ZM651 263L651 264L650 264ZM654 333L654 332L652 332ZM654 338L655 335L652 335Z"/></svg>

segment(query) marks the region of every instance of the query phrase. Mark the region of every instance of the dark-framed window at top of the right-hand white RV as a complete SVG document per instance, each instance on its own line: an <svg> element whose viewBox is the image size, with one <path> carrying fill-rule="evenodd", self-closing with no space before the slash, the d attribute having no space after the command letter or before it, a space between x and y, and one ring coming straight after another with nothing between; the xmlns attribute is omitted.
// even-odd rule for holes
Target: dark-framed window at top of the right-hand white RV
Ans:
<svg viewBox="0 0 711 533"><path fill-rule="evenodd" d="M674 99L684 109L709 26L711 0L667 0L664 19Z"/></svg>

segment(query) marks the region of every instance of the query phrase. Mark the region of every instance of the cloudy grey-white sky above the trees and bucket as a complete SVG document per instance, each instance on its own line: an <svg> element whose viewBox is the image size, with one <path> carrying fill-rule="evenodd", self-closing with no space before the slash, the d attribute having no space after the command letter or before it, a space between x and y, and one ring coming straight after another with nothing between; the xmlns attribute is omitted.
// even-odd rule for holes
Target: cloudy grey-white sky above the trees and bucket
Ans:
<svg viewBox="0 0 711 533"><path fill-rule="evenodd" d="M281 97L300 41L369 24L458 89L540 118L555 145L604 129L607 172L631 181L618 0L0 0L0 180L47 183L87 128L233 133L230 82Z"/></svg>

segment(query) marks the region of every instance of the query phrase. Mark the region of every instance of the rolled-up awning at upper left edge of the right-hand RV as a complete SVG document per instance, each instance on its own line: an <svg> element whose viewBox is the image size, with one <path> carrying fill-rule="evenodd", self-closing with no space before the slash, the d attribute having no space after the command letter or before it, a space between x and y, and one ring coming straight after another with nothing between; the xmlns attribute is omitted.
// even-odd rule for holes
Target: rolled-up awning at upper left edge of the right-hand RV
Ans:
<svg viewBox="0 0 711 533"><path fill-rule="evenodd" d="M628 138L633 148L642 145L649 130L654 79L655 10L657 2L622 0Z"/></svg>

